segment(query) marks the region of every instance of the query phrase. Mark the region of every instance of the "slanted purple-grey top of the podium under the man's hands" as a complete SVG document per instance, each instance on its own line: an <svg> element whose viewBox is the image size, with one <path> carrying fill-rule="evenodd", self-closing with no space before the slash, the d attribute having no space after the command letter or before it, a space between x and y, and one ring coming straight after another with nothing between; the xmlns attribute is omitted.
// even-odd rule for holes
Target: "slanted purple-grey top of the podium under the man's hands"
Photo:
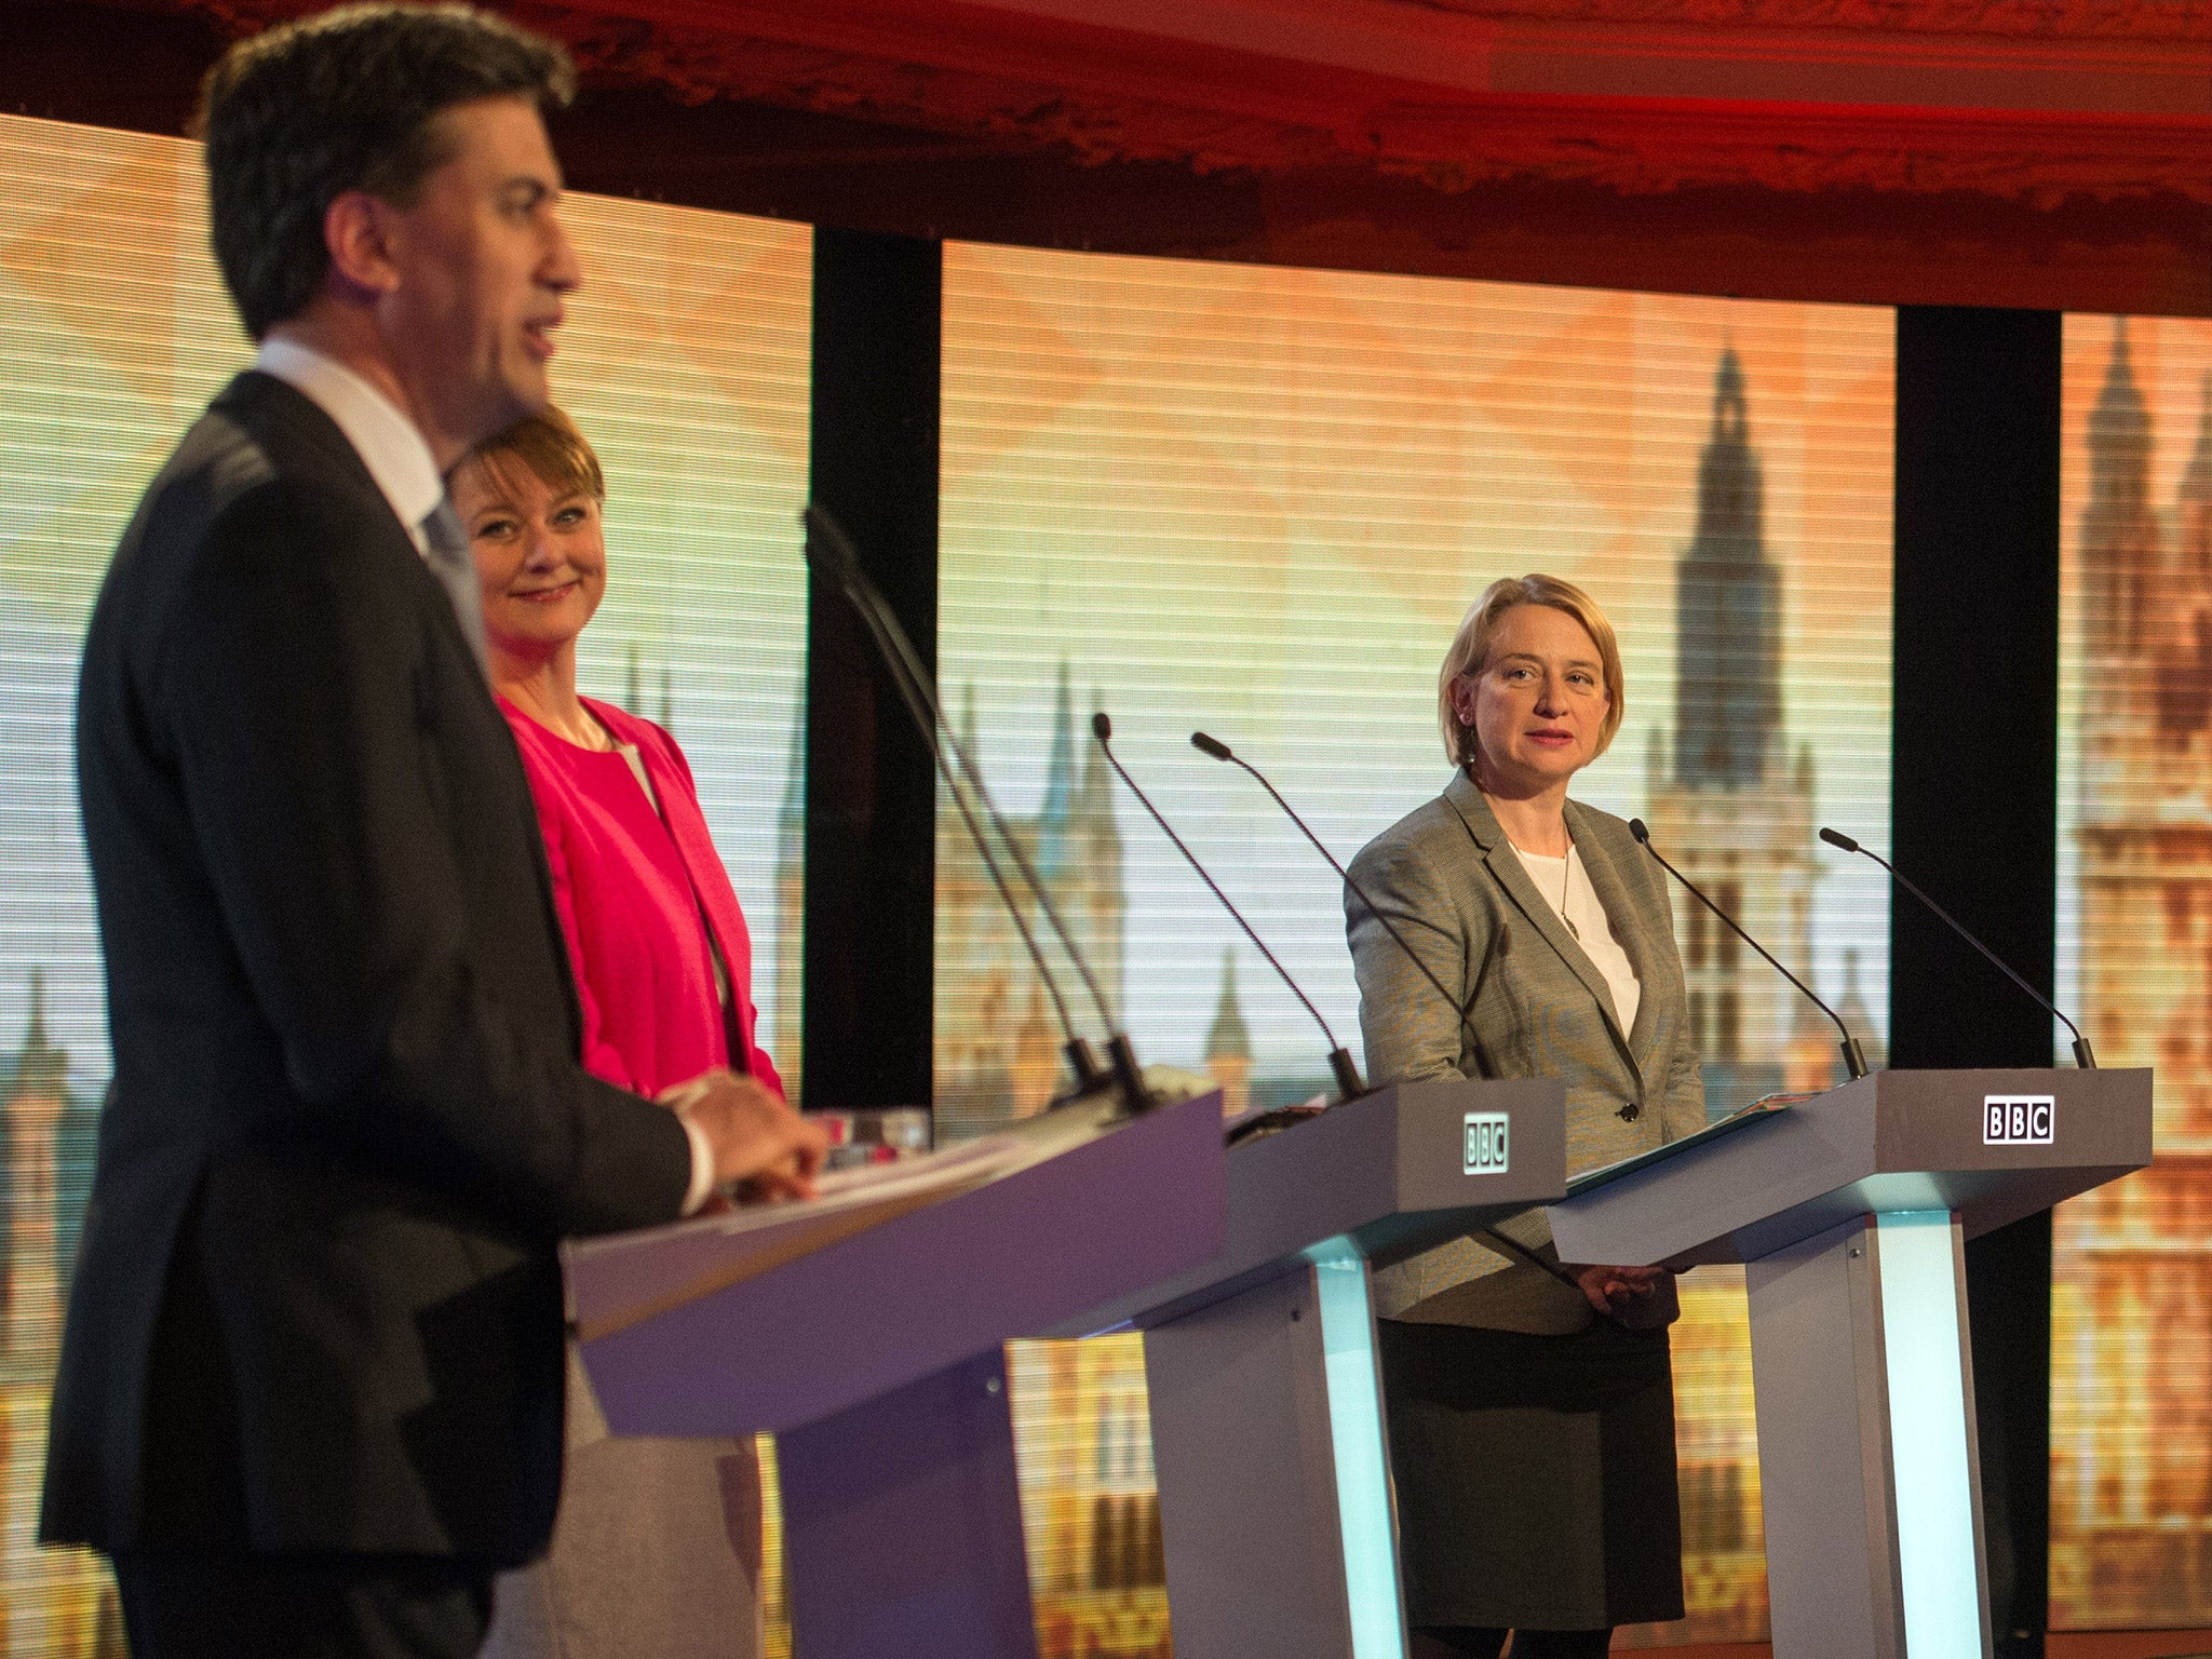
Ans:
<svg viewBox="0 0 2212 1659"><path fill-rule="evenodd" d="M1221 1248L1221 1095L1144 1117L1077 1104L1051 1157L907 1208L781 1206L566 1252L584 1369L615 1433L794 1429ZM896 1166L885 1166L896 1168Z"/></svg>

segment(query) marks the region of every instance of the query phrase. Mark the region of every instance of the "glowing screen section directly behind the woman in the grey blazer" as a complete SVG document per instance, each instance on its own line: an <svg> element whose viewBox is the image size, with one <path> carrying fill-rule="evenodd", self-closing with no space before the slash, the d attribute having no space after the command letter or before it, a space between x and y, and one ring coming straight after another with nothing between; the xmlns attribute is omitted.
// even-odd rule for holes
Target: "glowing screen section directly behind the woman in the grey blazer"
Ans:
<svg viewBox="0 0 2212 1659"><path fill-rule="evenodd" d="M1358 1051L1336 878L1188 734L1267 770L1349 858L1444 785L1436 668L1522 571L1586 584L1621 633L1626 723L1579 796L1648 818L1878 1051L1889 896L1814 827L1889 834L1891 374L1878 310L949 246L940 686L1139 1057L1232 1108L1327 1075L1323 1035L1102 768L1093 710ZM1679 929L1714 1110L1829 1082L1825 1022ZM1053 1093L1060 1033L1018 949L940 812L945 1133ZM1741 1279L1697 1274L1686 1303L1694 1613L1666 1635L1759 1637ZM1144 1371L1124 1338L1088 1347L1018 1371L1046 1391L1024 1407L1040 1621L1073 1652L1148 1650ZM1066 1455L1035 1455L1046 1433Z"/></svg>

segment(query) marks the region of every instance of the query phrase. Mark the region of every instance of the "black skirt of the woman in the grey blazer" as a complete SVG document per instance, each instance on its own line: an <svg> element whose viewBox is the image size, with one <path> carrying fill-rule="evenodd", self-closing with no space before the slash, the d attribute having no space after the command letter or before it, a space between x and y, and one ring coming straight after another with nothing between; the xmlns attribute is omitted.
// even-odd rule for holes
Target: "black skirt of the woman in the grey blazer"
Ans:
<svg viewBox="0 0 2212 1659"><path fill-rule="evenodd" d="M1681 1617L1666 1329L1376 1321L1407 1624Z"/></svg>

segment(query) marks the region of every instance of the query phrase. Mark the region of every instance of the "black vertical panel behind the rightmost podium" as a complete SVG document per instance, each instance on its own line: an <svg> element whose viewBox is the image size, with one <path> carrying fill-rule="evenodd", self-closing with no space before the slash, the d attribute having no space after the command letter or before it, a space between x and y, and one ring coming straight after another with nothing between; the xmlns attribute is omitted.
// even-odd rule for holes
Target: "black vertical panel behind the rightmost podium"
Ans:
<svg viewBox="0 0 2212 1659"><path fill-rule="evenodd" d="M1898 312L1898 869L2046 995L2057 931L2059 316ZM2051 1015L1902 894L1896 1066L2048 1066ZM2000 1652L2051 1564L2051 1217L1966 1245Z"/></svg>

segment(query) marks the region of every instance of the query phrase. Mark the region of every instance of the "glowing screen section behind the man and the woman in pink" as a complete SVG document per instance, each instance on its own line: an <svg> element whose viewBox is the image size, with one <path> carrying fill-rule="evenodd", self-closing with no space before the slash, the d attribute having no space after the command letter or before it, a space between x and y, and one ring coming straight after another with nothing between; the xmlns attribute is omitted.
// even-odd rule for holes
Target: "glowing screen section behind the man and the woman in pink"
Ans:
<svg viewBox="0 0 2212 1659"><path fill-rule="evenodd" d="M190 144L0 117L0 1652L20 1657L119 1641L97 1568L31 1542L58 1294L108 1075L69 719L115 538L250 356L204 252L201 195ZM779 967L799 960L810 234L604 199L573 199L568 226L588 285L555 383L608 471L608 599L582 681L684 743L752 920L770 1046L796 1062Z"/></svg>

